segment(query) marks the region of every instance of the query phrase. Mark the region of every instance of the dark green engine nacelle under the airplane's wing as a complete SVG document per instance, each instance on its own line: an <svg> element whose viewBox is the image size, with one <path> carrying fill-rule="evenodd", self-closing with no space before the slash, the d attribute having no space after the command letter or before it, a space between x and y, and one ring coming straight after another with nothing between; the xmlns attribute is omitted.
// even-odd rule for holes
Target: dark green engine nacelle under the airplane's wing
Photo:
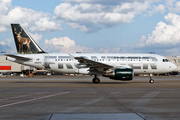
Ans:
<svg viewBox="0 0 180 120"><path fill-rule="evenodd" d="M114 69L109 73L103 74L103 76L109 77L110 79L126 81L133 79L134 71L131 68Z"/></svg>

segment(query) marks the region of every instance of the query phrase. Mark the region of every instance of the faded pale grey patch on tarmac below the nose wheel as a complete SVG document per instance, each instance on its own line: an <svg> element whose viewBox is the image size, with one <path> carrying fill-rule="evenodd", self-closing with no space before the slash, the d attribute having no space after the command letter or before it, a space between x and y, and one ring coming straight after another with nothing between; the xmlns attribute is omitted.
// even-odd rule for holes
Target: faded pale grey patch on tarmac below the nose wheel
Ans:
<svg viewBox="0 0 180 120"><path fill-rule="evenodd" d="M141 106L146 105L151 99L153 99L159 93L160 92L158 91L149 92L145 94L143 97L141 97L140 99L133 102L133 105L141 105Z"/></svg>

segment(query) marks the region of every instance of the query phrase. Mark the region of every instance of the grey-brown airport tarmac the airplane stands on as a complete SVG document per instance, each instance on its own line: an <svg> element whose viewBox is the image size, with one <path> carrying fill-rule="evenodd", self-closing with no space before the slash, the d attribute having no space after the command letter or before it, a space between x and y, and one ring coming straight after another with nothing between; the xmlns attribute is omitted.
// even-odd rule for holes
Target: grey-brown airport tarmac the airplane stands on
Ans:
<svg viewBox="0 0 180 120"><path fill-rule="evenodd" d="M2 120L179 120L180 76L0 78Z"/></svg>

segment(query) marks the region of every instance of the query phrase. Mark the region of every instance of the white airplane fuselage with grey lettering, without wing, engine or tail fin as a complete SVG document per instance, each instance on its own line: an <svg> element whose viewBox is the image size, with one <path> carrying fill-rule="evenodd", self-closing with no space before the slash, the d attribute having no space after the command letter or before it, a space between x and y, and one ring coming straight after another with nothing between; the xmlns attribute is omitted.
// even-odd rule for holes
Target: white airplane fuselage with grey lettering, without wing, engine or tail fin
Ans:
<svg viewBox="0 0 180 120"><path fill-rule="evenodd" d="M161 74L174 71L176 65L169 62L165 57L156 54L122 54L122 53L72 53L75 57L84 57L90 60L101 62L119 68L122 66L134 69L134 74ZM20 64L47 69L60 73L82 73L94 74L88 71L85 65L71 57L67 53L59 54L24 54L19 55L31 58L30 61L16 60L7 57L7 60Z"/></svg>

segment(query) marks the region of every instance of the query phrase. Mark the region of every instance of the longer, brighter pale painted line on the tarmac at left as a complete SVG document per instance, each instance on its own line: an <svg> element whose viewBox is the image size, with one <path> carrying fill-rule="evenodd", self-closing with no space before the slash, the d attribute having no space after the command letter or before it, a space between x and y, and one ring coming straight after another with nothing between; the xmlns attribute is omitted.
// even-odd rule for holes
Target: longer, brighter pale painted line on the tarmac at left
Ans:
<svg viewBox="0 0 180 120"><path fill-rule="evenodd" d="M4 105L0 105L0 108L1 107L6 107L6 106L10 106L10 105L30 102L30 101L34 101L34 100L39 100L39 99L43 99L43 98L48 98L48 97L52 97L52 96L56 96L56 95L66 94L66 93L69 93L69 92L61 92L61 93L56 93L56 94L52 94L52 95L46 95L46 96L42 96L42 97L38 97L38 98L33 98L33 99L29 99L29 100L23 100L23 101L13 102L13 103L9 103L9 104L4 104Z"/></svg>

